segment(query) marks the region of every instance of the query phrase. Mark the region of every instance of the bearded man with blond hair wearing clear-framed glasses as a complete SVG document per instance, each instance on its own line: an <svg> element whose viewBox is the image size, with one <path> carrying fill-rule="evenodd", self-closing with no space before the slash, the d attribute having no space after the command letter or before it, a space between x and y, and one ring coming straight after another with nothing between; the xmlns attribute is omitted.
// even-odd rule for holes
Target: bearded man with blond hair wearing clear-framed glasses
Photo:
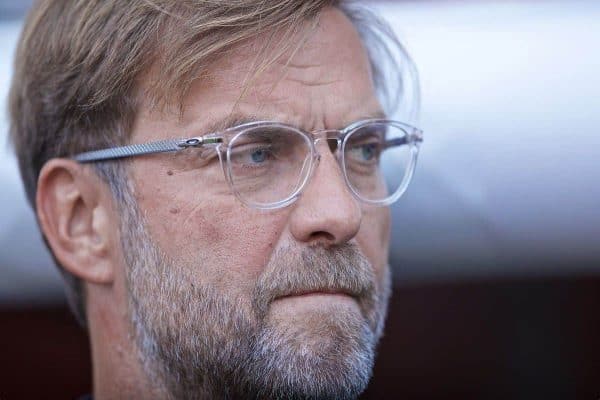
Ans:
<svg viewBox="0 0 600 400"><path fill-rule="evenodd" d="M95 399L365 389L388 206L420 141L385 119L374 49L389 44L370 18L326 0L31 11L11 135Z"/></svg>

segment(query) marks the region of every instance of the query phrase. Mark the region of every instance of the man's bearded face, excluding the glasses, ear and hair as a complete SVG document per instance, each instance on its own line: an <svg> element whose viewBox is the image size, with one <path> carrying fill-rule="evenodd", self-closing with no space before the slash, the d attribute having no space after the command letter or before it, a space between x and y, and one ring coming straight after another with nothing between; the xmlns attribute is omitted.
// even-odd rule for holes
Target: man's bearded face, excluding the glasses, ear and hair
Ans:
<svg viewBox="0 0 600 400"><path fill-rule="evenodd" d="M232 113L307 131L381 113L339 11L252 80L264 40L199 80L182 118L142 109L132 141L202 135ZM198 150L131 163L121 229L132 329L147 372L174 395L343 398L366 386L389 292L389 211L359 203L327 143L317 150L301 197L275 211L242 205Z"/></svg>

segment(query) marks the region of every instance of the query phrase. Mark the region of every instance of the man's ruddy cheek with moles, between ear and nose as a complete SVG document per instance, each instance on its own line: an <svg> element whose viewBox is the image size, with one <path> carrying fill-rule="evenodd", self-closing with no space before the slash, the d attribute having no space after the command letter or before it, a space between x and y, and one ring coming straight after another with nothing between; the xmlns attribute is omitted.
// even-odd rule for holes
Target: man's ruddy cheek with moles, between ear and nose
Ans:
<svg viewBox="0 0 600 400"><path fill-rule="evenodd" d="M228 191L194 198L165 185L138 201L165 255L194 279L228 291L253 288L285 226L283 213L247 208Z"/></svg>

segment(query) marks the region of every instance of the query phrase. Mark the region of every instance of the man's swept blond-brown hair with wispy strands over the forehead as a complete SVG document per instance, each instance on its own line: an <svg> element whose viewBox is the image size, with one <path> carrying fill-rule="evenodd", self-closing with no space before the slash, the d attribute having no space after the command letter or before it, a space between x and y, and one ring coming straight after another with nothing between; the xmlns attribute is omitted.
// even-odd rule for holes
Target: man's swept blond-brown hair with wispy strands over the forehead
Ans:
<svg viewBox="0 0 600 400"><path fill-rule="evenodd" d="M30 203L49 159L128 141L142 78L152 77L144 95L154 104L174 104L236 44L279 32L282 39L271 48L283 53L328 6L343 9L364 38L387 36L401 49L381 22L343 0L38 1L18 44L9 99L11 140ZM366 47L375 83L386 89L390 82L372 51L389 53L390 42L371 41ZM404 61L412 65L407 56ZM123 175L112 164L97 170L120 197ZM84 323L81 282L62 272L69 302Z"/></svg>

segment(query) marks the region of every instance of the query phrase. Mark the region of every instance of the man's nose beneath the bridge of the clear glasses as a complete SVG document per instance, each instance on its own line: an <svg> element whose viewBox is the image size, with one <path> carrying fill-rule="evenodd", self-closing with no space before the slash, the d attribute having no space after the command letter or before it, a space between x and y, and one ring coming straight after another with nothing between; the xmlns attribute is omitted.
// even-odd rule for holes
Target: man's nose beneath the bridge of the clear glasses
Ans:
<svg viewBox="0 0 600 400"><path fill-rule="evenodd" d="M358 200L350 193L328 142L317 143L320 162L290 216L296 240L325 247L353 239L362 220Z"/></svg>

